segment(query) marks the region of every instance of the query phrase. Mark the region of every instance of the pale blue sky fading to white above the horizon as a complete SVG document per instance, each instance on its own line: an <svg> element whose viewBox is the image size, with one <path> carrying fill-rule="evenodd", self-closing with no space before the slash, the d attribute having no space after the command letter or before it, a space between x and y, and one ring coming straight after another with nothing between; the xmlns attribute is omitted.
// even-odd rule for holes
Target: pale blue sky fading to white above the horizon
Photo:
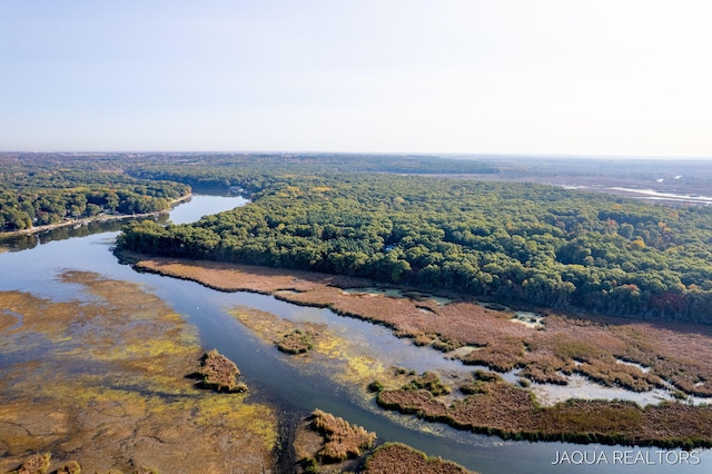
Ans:
<svg viewBox="0 0 712 474"><path fill-rule="evenodd" d="M712 159L709 0L0 0L0 150Z"/></svg>

